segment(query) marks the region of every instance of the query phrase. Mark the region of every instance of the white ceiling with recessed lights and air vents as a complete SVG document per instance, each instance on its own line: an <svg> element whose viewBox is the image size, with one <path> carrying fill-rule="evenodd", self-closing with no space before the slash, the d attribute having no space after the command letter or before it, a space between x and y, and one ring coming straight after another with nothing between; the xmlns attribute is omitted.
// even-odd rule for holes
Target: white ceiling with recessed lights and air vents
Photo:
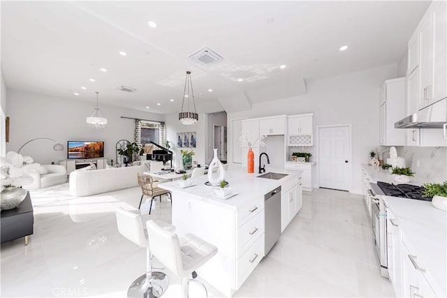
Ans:
<svg viewBox="0 0 447 298"><path fill-rule="evenodd" d="M100 105L149 106L159 113L179 112L185 72L191 70L198 112L245 110L251 103L305 94L304 80L397 62L429 5L1 1L1 67L11 89L91 103L100 91ZM340 52L342 45L349 49ZM223 61L207 68L194 64L188 56L204 46ZM115 90L123 84L138 92Z"/></svg>

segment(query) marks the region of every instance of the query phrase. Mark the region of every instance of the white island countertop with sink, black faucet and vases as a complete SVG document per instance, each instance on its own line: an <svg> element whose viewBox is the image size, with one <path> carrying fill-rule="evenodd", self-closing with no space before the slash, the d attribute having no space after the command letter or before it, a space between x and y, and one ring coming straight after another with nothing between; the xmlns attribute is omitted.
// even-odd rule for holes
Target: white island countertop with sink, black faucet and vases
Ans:
<svg viewBox="0 0 447 298"><path fill-rule="evenodd" d="M259 198L264 196L265 193L272 191L281 184L287 183L289 179L297 179L301 176L299 170L284 170L268 168L266 172L278 172L288 174L288 176L279 180L258 178L261 175L258 173L249 174L246 169L242 167L231 167L227 171L226 181L228 181L228 187L237 193L233 198L223 200L217 198L214 194L212 186L205 186L205 182L208 181L207 175L200 176L191 179L196 186L190 186L187 188L181 188L178 181L167 182L159 184L159 187L167 189L173 193L184 193L189 198L196 198L197 200L207 201L210 204L217 204L221 207L237 210L244 207L247 200L252 198Z"/></svg>

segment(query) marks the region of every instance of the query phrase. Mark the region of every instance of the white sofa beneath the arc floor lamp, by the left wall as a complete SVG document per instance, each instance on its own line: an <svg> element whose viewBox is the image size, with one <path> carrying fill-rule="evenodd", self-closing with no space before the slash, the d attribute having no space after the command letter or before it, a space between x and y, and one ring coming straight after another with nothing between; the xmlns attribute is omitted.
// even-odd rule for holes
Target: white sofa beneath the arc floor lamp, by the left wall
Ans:
<svg viewBox="0 0 447 298"><path fill-rule="evenodd" d="M67 181L67 170L62 165L41 165L38 168L39 170L36 170L36 167L34 167L33 169L27 171L27 174L33 178L33 182L31 184L24 185L23 188L45 188L56 184L66 183ZM40 169L42 168L44 168L44 172L47 173L41 174L42 170Z"/></svg>

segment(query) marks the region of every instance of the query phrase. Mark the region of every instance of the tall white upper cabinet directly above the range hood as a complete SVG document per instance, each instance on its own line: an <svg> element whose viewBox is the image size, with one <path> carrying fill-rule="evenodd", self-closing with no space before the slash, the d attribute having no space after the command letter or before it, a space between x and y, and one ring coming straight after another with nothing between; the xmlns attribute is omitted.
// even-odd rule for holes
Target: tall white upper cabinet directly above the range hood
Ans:
<svg viewBox="0 0 447 298"><path fill-rule="evenodd" d="M447 96L446 1L433 1L420 21L419 109Z"/></svg>

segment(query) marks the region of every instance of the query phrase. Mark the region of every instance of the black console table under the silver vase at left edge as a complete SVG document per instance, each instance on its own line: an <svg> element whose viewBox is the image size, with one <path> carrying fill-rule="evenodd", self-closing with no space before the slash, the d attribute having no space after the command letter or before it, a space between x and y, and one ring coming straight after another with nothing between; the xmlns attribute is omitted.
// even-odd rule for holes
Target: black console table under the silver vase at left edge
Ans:
<svg viewBox="0 0 447 298"><path fill-rule="evenodd" d="M28 236L33 234L34 225L33 205L29 192L19 206L0 212L0 225L2 243L24 237L25 245L28 244Z"/></svg>

